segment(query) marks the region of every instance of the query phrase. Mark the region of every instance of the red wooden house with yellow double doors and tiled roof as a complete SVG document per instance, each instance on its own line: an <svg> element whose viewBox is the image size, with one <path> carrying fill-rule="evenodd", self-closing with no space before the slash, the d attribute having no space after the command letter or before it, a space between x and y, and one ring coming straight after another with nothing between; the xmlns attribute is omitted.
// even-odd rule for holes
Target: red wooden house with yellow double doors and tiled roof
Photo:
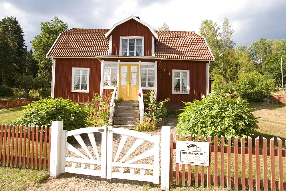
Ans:
<svg viewBox="0 0 286 191"><path fill-rule="evenodd" d="M52 97L90 102L118 87L119 97L138 100L155 91L169 105L200 100L209 93L209 63L215 58L195 32L154 31L131 16L111 29L73 28L47 53L52 59Z"/></svg>

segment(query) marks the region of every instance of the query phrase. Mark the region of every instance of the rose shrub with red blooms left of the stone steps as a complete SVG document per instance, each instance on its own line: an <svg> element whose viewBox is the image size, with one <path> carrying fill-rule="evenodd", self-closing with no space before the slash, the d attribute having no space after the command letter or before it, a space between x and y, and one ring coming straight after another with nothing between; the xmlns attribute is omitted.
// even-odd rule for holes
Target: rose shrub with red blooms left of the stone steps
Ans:
<svg viewBox="0 0 286 191"><path fill-rule="evenodd" d="M90 106L90 122L95 127L108 125L109 120L109 105L112 97L112 92L108 95L100 95L95 93Z"/></svg>

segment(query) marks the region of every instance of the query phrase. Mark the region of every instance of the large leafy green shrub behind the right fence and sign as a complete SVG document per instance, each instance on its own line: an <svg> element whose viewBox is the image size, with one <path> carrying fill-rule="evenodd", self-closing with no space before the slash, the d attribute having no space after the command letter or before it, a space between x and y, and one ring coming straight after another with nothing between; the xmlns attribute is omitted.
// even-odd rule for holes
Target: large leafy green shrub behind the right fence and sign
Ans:
<svg viewBox="0 0 286 191"><path fill-rule="evenodd" d="M228 94L225 96L211 93L207 97L203 96L201 101L186 103L182 109L184 112L179 114L177 132L192 136L218 135L219 138L220 135L238 138L252 135L259 127L247 101L241 98L233 100Z"/></svg>

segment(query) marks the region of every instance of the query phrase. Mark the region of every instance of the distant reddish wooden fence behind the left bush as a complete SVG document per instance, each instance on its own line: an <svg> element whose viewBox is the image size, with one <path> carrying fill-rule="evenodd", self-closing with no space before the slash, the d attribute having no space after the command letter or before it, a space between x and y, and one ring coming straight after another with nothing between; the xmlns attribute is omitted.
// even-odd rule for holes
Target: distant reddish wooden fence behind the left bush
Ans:
<svg viewBox="0 0 286 191"><path fill-rule="evenodd" d="M27 106L33 101L39 100L40 98L21 98L21 99L5 99L0 100L0 110L9 108L22 108L22 106Z"/></svg>

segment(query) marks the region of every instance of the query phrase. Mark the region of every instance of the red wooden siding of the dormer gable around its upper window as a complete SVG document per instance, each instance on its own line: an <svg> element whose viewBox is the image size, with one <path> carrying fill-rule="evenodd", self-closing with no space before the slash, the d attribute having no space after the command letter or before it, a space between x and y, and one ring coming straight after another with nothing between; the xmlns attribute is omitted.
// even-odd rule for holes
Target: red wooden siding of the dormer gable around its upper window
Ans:
<svg viewBox="0 0 286 191"><path fill-rule="evenodd" d="M112 54L119 55L120 36L144 37L144 56L152 56L152 33L145 25L130 19L118 25L110 34L112 35ZM108 37L109 38L109 37Z"/></svg>

